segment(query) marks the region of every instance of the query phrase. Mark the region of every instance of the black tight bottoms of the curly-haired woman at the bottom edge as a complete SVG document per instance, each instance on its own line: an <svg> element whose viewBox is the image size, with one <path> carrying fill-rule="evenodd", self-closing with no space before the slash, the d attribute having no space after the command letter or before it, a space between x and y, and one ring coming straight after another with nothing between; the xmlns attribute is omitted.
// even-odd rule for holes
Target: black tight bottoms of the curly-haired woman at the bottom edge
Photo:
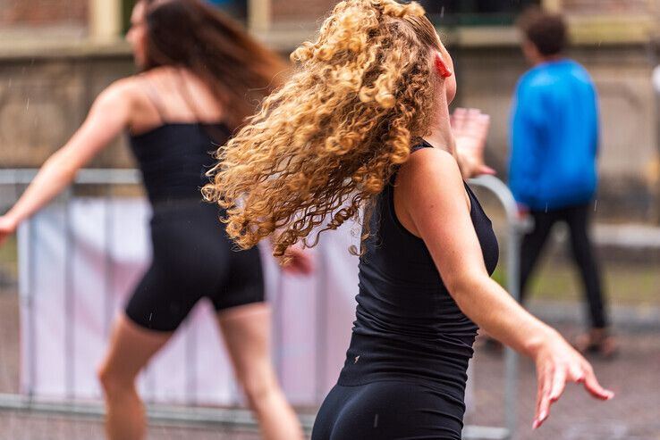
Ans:
<svg viewBox="0 0 660 440"><path fill-rule="evenodd" d="M403 381L336 385L314 422L312 440L461 440L465 405Z"/></svg>

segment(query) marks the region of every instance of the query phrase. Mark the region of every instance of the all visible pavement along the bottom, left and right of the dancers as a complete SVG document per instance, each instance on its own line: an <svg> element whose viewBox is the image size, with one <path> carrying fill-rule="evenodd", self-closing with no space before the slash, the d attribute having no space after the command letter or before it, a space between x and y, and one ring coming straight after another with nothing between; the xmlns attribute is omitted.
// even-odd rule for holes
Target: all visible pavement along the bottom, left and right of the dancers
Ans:
<svg viewBox="0 0 660 440"><path fill-rule="evenodd" d="M559 307L554 307L558 305ZM568 304L535 303L569 339L580 333L577 315L563 316ZM573 305L573 308L575 305ZM18 381L18 303L15 295L0 294L0 392L15 392ZM614 309L615 311L617 309ZM552 320L551 320L552 321ZM580 386L569 386L554 405L546 424L531 430L536 386L530 361L520 360L518 434L516 440L660 440L660 327L628 325L617 331L619 355L609 361L595 358L594 368L603 385L613 389L611 402L591 399ZM478 347L473 361L475 406L466 422L503 426L503 353ZM103 438L97 419L76 419L0 411L0 440L95 440ZM148 439L256 440L254 431L226 427L190 427L154 424ZM356 439L360 440L360 439Z"/></svg>

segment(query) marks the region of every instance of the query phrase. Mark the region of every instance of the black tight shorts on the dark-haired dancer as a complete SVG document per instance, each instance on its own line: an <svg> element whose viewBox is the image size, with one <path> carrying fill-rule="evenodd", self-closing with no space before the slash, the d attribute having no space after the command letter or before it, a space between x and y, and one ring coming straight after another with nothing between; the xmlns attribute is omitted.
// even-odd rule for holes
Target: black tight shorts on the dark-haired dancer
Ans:
<svg viewBox="0 0 660 440"><path fill-rule="evenodd" d="M236 251L217 207L182 201L154 209L153 258L126 315L142 328L170 332L206 297L216 311L264 301L257 247Z"/></svg>

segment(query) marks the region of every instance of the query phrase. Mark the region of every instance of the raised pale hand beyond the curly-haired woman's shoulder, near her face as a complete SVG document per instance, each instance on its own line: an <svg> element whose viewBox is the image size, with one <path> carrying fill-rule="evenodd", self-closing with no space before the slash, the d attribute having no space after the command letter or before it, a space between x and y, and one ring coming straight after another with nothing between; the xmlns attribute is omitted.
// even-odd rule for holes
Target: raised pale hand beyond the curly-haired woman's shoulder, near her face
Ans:
<svg viewBox="0 0 660 440"><path fill-rule="evenodd" d="M484 163L490 116L478 109L457 108L450 122L463 178L495 174L495 170Z"/></svg>

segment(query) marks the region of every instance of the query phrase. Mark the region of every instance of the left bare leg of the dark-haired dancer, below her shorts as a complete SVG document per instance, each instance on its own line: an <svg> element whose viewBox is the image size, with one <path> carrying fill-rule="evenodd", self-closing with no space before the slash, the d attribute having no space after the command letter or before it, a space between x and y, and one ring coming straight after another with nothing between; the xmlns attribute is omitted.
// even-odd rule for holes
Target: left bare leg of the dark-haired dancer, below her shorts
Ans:
<svg viewBox="0 0 660 440"><path fill-rule="evenodd" d="M110 346L98 378L106 393L106 435L110 440L145 438L144 406L135 378L172 333L141 328L122 314L114 323Z"/></svg>

